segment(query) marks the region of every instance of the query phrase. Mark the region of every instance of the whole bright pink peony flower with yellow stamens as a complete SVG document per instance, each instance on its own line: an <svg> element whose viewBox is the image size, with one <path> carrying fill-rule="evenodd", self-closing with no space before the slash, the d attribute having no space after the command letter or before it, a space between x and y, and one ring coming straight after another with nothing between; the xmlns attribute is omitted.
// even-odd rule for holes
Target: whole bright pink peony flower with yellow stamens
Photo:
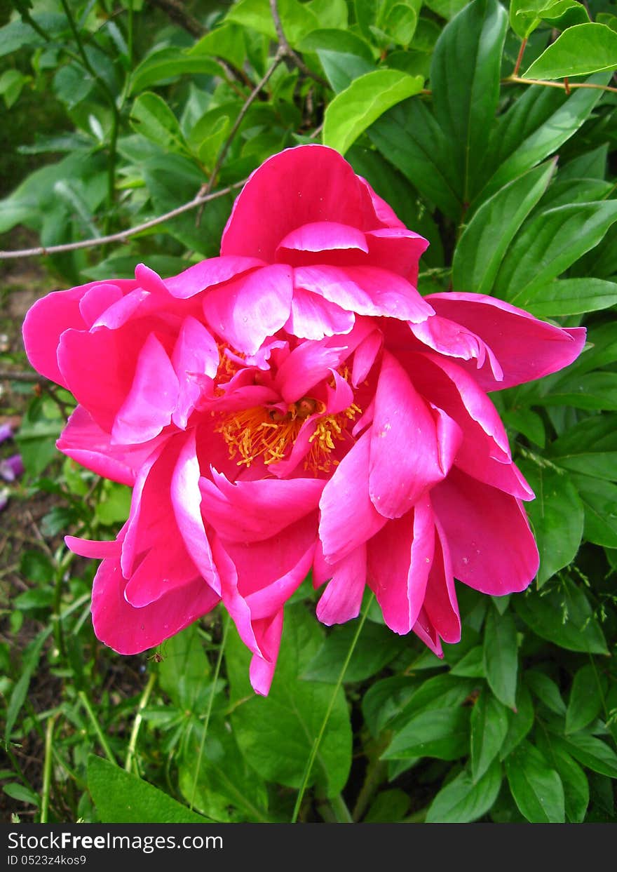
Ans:
<svg viewBox="0 0 617 872"><path fill-rule="evenodd" d="M67 537L102 559L102 641L143 651L222 600L267 693L311 567L323 623L356 617L368 584L439 655L460 637L455 577L532 581L533 494L486 391L570 364L585 330L419 296L427 244L338 153L299 146L247 182L220 257L32 307L31 363L79 403L58 447L133 487L116 542Z"/></svg>

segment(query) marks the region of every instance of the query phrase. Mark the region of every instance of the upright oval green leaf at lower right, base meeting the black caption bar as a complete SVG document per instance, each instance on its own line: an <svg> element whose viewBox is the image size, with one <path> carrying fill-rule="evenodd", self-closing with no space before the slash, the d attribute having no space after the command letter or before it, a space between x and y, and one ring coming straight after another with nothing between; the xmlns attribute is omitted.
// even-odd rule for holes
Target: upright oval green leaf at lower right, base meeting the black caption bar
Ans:
<svg viewBox="0 0 617 872"><path fill-rule="evenodd" d="M564 788L559 774L528 742L505 760L505 774L521 814L532 823L564 823Z"/></svg>

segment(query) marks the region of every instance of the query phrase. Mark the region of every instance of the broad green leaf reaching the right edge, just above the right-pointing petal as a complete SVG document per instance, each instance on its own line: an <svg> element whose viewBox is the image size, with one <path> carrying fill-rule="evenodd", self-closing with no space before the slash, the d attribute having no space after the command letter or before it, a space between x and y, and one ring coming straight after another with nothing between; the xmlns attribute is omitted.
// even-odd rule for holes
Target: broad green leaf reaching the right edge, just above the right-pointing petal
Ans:
<svg viewBox="0 0 617 872"><path fill-rule="evenodd" d="M593 249L617 221L617 201L573 203L540 212L517 234L495 281L495 292L525 307L541 288Z"/></svg>

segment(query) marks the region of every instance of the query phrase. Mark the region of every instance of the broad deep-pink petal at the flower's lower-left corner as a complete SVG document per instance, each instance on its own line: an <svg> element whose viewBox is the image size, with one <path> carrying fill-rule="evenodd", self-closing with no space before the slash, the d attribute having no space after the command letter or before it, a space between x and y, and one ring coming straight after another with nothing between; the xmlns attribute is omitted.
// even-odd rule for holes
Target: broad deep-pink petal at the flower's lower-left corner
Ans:
<svg viewBox="0 0 617 872"><path fill-rule="evenodd" d="M118 559L104 560L92 585L92 623L98 639L119 654L153 648L214 609L219 597L201 578L135 609L126 602Z"/></svg>

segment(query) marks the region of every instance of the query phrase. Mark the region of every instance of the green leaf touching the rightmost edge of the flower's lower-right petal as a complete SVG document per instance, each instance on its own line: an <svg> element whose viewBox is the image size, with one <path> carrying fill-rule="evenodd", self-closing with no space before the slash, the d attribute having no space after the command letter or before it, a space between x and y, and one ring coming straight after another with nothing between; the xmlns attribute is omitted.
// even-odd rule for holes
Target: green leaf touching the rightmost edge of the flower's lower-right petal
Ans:
<svg viewBox="0 0 617 872"><path fill-rule="evenodd" d="M519 467L536 494L525 508L538 544L541 587L576 556L583 535L583 504L565 473L525 460Z"/></svg>

